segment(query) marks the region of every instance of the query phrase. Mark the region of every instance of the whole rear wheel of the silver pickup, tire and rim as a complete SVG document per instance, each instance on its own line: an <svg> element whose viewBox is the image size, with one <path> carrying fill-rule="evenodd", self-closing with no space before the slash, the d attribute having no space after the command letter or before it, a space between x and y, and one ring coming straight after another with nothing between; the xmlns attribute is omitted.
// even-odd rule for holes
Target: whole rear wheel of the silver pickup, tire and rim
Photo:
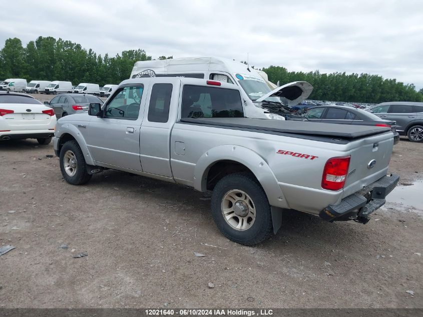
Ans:
<svg viewBox="0 0 423 317"><path fill-rule="evenodd" d="M238 208L236 212L234 207ZM226 213L228 220L225 219L224 209L233 209ZM254 245L268 239L272 233L269 201L263 188L250 173L234 173L223 177L213 190L211 211L219 230L237 243Z"/></svg>

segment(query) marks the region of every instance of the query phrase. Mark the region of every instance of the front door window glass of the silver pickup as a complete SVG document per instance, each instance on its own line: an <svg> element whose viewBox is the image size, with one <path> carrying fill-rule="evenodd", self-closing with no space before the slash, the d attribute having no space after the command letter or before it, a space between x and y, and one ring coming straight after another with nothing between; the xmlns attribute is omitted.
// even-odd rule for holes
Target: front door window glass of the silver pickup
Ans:
<svg viewBox="0 0 423 317"><path fill-rule="evenodd" d="M106 118L138 119L144 86L122 87L107 104Z"/></svg>

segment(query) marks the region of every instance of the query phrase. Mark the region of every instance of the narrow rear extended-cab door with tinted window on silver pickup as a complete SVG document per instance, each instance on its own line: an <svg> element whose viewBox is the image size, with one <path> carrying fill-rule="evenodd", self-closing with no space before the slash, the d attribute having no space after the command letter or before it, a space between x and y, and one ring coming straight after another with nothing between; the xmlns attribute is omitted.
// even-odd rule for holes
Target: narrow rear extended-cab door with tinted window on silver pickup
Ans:
<svg viewBox="0 0 423 317"><path fill-rule="evenodd" d="M151 86L140 133L143 172L172 177L170 134L178 114L180 81L161 78Z"/></svg>

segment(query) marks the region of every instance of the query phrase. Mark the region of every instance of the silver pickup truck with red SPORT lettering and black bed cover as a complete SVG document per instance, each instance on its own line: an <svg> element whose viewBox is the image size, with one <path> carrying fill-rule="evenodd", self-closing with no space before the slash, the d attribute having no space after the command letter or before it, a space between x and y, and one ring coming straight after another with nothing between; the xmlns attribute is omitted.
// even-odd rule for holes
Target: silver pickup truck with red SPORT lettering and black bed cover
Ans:
<svg viewBox="0 0 423 317"><path fill-rule="evenodd" d="M245 118L237 86L163 77L123 81L54 137L68 183L115 169L212 191L217 227L245 245L276 233L284 209L366 223L398 182L392 146L389 128Z"/></svg>

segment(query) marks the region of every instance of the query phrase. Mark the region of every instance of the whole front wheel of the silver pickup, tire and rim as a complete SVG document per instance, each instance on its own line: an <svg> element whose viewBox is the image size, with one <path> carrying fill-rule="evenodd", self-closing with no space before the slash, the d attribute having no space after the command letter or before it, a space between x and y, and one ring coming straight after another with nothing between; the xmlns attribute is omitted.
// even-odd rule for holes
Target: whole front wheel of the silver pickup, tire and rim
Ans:
<svg viewBox="0 0 423 317"><path fill-rule="evenodd" d="M82 185L91 179L87 173L84 154L75 140L66 142L59 156L60 170L63 178L72 185Z"/></svg>

